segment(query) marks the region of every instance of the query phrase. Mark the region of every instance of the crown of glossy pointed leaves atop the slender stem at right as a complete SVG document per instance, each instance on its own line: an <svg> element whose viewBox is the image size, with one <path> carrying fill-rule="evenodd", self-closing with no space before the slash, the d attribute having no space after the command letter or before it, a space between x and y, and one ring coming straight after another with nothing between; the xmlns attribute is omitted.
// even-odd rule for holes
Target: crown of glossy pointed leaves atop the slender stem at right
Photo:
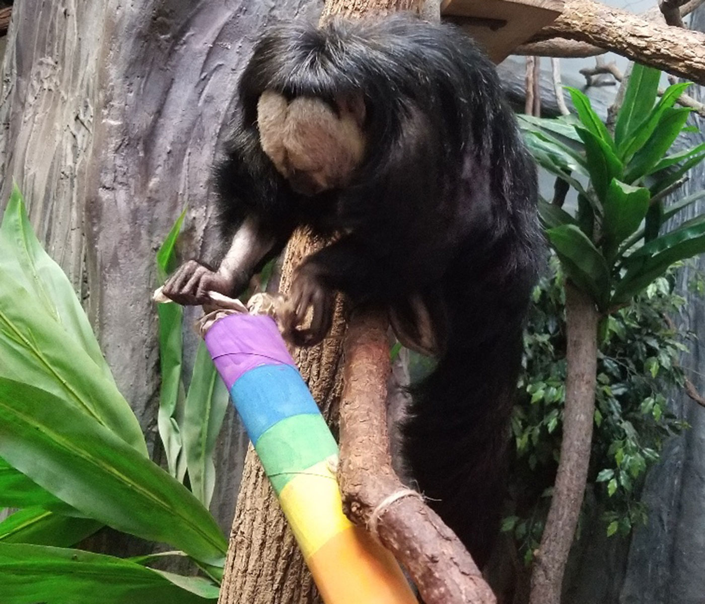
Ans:
<svg viewBox="0 0 705 604"><path fill-rule="evenodd" d="M705 216L659 235L668 219L705 196L664 206L665 194L705 159L705 144L668 155L692 110L675 108L688 84L668 87L655 102L660 75L634 66L614 134L575 89L577 116L520 118L534 158L578 195L575 214L541 202L548 241L568 277L606 313L675 262L705 252Z"/></svg>

